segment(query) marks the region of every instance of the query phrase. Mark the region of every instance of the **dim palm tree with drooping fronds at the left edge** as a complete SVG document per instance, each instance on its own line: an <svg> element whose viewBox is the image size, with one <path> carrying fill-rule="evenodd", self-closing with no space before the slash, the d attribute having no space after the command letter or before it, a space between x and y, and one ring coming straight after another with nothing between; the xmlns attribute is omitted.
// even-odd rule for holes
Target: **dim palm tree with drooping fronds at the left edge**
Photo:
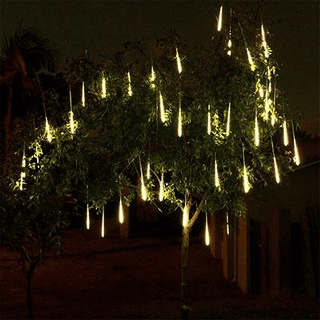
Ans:
<svg viewBox="0 0 320 320"><path fill-rule="evenodd" d="M12 123L17 113L25 113L26 106L14 104L14 95L28 92L39 96L38 73L54 70L56 46L52 40L42 37L35 29L23 29L3 39L0 56L0 85L4 92L0 114L5 139L4 155L12 139ZM20 108L20 109L19 109ZM21 108L22 111L21 112ZM20 112L17 112L20 111Z"/></svg>

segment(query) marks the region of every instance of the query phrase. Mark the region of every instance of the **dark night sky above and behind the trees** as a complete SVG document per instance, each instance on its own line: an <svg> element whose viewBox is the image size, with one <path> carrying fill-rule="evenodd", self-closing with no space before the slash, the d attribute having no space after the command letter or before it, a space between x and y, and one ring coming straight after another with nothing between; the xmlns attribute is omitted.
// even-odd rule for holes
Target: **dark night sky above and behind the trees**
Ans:
<svg viewBox="0 0 320 320"><path fill-rule="evenodd" d="M262 2L262 17L271 34L267 42L282 64L279 87L286 92L293 113L302 114L302 128L318 134L319 1ZM169 28L175 28L189 46L205 45L210 43L221 3L224 1L0 0L0 36L18 29L22 19L22 26L36 26L55 41L62 61L86 48L95 58L103 50L121 49L127 40L143 38L151 45Z"/></svg>

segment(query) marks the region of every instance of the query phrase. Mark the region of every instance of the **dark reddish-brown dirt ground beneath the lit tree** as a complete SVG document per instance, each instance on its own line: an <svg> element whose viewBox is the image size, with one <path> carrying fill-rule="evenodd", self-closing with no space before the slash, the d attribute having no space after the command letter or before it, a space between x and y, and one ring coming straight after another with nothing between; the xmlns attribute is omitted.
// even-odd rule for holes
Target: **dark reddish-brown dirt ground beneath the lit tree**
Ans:
<svg viewBox="0 0 320 320"><path fill-rule="evenodd" d="M180 238L101 238L68 230L63 255L34 274L40 319L176 319L180 310ZM244 295L222 275L221 261L192 238L190 318L318 319L314 299L294 294ZM0 319L26 317L25 279L17 255L0 248Z"/></svg>

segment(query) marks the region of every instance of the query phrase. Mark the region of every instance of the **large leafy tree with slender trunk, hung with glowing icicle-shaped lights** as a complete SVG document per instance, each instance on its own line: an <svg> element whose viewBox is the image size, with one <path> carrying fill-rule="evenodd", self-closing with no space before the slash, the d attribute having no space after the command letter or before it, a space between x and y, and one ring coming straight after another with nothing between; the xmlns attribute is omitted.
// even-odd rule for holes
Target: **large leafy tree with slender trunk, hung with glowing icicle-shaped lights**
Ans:
<svg viewBox="0 0 320 320"><path fill-rule="evenodd" d="M232 39L224 26L209 48L187 49L171 31L157 41L151 62L139 42L105 55L101 65L87 56L72 60L63 102L69 111L51 117L60 103L52 98L48 124L35 137L40 164L61 194L76 189L99 210L128 188L126 203L138 194L180 207L183 316L189 232L199 214L246 214L245 193L278 182L292 162L276 138L283 97L274 88L278 68L263 27L248 46L239 16L232 17Z"/></svg>

